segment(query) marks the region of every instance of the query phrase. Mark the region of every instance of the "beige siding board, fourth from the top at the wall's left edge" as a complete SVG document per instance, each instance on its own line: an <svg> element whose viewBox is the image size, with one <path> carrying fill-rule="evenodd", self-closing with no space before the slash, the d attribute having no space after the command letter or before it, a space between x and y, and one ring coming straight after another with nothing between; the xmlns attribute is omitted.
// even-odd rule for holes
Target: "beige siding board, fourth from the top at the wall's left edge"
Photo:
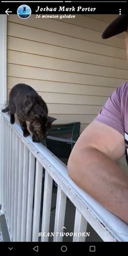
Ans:
<svg viewBox="0 0 128 256"><path fill-rule="evenodd" d="M79 74L101 75L114 78L128 79L125 69L117 69L79 63L74 61L58 60L34 54L20 53L8 50L8 63L25 65L38 68L54 69L57 71L74 72Z"/></svg>

